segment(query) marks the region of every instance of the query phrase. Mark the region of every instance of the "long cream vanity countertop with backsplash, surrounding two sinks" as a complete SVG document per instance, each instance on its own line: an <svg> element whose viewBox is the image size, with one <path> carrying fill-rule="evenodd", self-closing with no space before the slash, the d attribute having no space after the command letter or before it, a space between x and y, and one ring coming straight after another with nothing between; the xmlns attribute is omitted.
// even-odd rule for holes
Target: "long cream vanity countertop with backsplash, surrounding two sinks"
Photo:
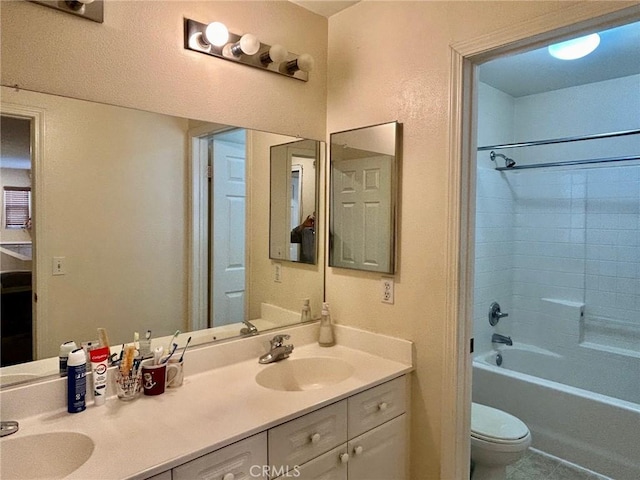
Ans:
<svg viewBox="0 0 640 480"><path fill-rule="evenodd" d="M314 326L294 327L301 328L317 329ZM283 332L289 330L293 329ZM19 420L20 431L2 441L54 431L83 433L93 440L94 451L87 462L66 478L146 478L413 368L411 342L348 327L336 331L339 344L329 348L319 347L316 343L298 345L292 335L296 347L290 357L335 357L347 361L354 367L353 375L334 385L296 392L264 388L256 383L255 376L267 366L258 364L257 356L254 356L211 370L194 368L194 373L190 373L187 369L181 387L168 388L164 394L155 397L140 395L131 402L123 402L113 396L100 407L88 403L87 409L77 414L57 408L26 418L3 415L3 420ZM273 334L269 332L265 336L270 338ZM258 345L257 342L264 343L265 338L240 340L236 345L242 345L243 341ZM381 342L389 348L380 349ZM363 345L367 347L360 348ZM358 349L352 348L354 346ZM206 348L216 349L217 346ZM367 350L381 354L386 350L386 356L391 359L367 353ZM204 349L197 352L192 355L193 363L202 362L203 355L210 354ZM187 352L185 356L185 366L190 362L191 353Z"/></svg>

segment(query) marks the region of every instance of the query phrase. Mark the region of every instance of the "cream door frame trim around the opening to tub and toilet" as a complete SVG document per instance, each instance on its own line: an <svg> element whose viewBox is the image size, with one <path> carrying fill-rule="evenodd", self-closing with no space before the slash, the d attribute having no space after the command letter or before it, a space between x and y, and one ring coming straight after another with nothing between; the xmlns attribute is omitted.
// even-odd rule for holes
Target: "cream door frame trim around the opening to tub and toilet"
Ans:
<svg viewBox="0 0 640 480"><path fill-rule="evenodd" d="M475 212L475 65L569 34L640 18L638 2L580 2L451 47L446 318L441 478L469 478L473 246ZM452 405L453 404L453 405Z"/></svg>

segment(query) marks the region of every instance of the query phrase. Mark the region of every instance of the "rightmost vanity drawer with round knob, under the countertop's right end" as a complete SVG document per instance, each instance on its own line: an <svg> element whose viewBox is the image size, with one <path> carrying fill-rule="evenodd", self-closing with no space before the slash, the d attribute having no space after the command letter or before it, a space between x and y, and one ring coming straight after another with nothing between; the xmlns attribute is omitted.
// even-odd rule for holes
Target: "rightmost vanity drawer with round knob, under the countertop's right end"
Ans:
<svg viewBox="0 0 640 480"><path fill-rule="evenodd" d="M406 375L350 397L349 438L404 413L406 401Z"/></svg>

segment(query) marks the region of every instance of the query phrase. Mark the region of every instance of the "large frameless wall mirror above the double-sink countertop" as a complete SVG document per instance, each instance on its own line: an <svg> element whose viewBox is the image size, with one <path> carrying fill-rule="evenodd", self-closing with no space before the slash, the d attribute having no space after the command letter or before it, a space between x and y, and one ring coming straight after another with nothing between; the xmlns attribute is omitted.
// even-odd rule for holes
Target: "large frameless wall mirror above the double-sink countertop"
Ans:
<svg viewBox="0 0 640 480"><path fill-rule="evenodd" d="M269 258L271 147L300 139L1 94L3 191L28 192L31 219L7 225L3 194L3 384L56 374L60 344L95 340L98 327L112 345L147 330L152 339L180 330L181 344L192 335L194 345L246 334L245 322L258 331L297 323L306 298L320 312L323 262L287 262L276 282ZM324 144L306 145L322 169Z"/></svg>

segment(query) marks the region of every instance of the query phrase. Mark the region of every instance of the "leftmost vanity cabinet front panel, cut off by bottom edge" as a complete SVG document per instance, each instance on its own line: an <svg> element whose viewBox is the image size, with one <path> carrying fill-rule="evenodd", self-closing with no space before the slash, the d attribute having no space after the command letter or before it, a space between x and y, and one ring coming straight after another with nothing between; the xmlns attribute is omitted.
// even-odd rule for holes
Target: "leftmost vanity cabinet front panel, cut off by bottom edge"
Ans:
<svg viewBox="0 0 640 480"><path fill-rule="evenodd" d="M267 434L259 433L173 469L173 480L267 480Z"/></svg>

